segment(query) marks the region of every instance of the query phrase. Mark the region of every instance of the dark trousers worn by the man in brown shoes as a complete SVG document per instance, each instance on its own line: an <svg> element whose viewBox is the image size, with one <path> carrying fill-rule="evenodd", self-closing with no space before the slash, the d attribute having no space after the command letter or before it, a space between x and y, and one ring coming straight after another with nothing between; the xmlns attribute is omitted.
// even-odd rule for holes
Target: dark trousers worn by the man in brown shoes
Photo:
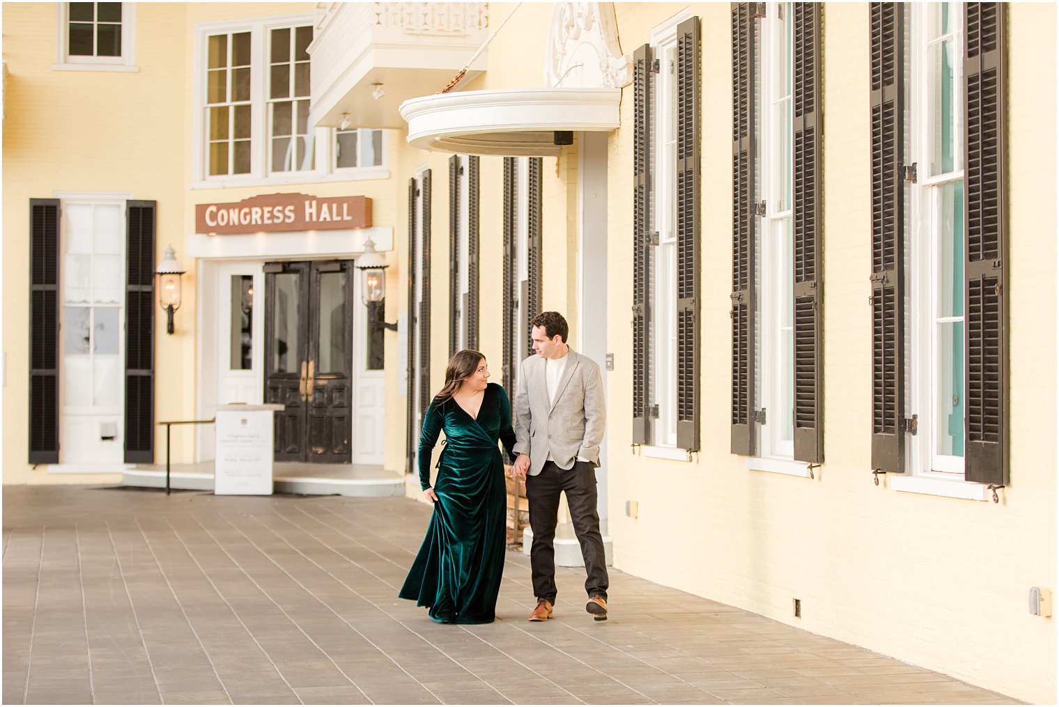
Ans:
<svg viewBox="0 0 1059 707"><path fill-rule="evenodd" d="M530 502L530 566L533 570L533 592L538 599L555 603L555 525L559 512L559 494L567 492L570 520L581 545L588 578L585 590L589 596L607 598L607 559L603 536L599 534L599 513L596 512L595 468L588 461L575 461L570 469L560 469L545 461L536 476L526 476L526 500Z"/></svg>

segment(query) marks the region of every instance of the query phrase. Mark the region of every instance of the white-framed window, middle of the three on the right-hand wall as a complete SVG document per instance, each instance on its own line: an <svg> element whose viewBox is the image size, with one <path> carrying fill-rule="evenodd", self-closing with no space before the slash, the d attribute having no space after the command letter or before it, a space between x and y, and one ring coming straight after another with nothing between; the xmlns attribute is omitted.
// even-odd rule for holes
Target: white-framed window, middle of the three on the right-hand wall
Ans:
<svg viewBox="0 0 1059 707"><path fill-rule="evenodd" d="M793 328L793 13L770 2L760 20L757 182L765 216L758 220L758 456L794 458Z"/></svg>

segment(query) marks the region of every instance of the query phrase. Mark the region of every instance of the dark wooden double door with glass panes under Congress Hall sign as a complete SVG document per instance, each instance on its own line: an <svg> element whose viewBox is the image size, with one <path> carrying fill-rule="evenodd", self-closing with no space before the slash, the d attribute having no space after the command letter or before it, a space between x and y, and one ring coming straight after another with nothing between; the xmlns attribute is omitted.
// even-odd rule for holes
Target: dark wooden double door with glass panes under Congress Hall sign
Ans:
<svg viewBox="0 0 1059 707"><path fill-rule="evenodd" d="M265 402L275 460L349 463L353 261L265 265Z"/></svg>

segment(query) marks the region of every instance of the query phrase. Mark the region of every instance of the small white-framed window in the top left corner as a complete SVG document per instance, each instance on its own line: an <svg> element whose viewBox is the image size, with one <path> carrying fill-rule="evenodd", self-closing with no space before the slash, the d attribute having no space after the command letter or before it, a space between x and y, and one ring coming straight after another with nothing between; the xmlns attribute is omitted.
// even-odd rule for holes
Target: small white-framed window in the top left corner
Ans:
<svg viewBox="0 0 1059 707"><path fill-rule="evenodd" d="M139 71L134 2L59 2L53 69Z"/></svg>

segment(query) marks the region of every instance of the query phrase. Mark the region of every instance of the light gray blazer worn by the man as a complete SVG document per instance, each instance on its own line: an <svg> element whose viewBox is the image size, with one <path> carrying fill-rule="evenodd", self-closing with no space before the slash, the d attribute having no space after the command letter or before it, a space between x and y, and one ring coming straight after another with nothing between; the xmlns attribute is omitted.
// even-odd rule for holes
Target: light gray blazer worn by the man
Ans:
<svg viewBox="0 0 1059 707"><path fill-rule="evenodd" d="M570 469L577 457L599 466L607 407L603 396L603 376L592 359L567 354L554 403L548 401L544 359L531 356L519 365L515 394L515 452L530 455L530 475L540 473L549 452L562 469Z"/></svg>

